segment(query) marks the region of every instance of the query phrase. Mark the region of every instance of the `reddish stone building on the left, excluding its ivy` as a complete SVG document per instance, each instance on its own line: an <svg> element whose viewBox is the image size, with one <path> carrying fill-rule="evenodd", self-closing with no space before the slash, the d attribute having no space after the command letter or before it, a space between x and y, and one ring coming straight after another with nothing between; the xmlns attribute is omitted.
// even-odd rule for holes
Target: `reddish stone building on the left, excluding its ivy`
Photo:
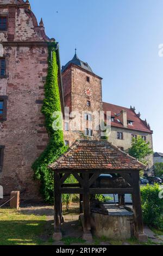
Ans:
<svg viewBox="0 0 163 256"><path fill-rule="evenodd" d="M40 199L31 166L48 143L41 106L52 41L28 0L0 0L0 185L25 200Z"/></svg>

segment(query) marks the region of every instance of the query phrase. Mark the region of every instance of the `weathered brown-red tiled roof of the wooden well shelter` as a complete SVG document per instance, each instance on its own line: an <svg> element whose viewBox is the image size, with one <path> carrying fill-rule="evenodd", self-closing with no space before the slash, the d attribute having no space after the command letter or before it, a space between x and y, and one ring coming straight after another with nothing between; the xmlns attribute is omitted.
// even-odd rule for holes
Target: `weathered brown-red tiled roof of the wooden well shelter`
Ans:
<svg viewBox="0 0 163 256"><path fill-rule="evenodd" d="M108 141L76 141L57 161L49 165L55 169L140 170L146 166L124 153Z"/></svg>

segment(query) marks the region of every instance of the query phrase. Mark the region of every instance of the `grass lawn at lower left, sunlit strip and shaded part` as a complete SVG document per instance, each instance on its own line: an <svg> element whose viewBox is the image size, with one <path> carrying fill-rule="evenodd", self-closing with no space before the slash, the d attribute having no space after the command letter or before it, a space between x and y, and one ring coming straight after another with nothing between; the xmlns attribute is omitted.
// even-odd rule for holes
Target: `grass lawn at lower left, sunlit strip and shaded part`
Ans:
<svg viewBox="0 0 163 256"><path fill-rule="evenodd" d="M24 215L16 210L0 209L0 245L41 245L39 236L45 216Z"/></svg>

